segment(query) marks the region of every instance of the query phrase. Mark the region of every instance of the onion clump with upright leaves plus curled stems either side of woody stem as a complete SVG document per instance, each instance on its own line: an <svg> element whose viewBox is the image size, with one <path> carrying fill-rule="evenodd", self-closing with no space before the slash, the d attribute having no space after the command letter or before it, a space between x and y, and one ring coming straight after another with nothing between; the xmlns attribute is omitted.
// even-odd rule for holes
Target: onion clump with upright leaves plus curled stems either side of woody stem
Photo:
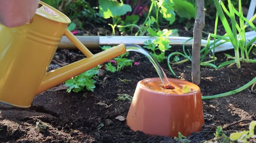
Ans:
<svg viewBox="0 0 256 143"><path fill-rule="evenodd" d="M234 63L236 63L236 66L238 68L241 67L240 62L255 63L256 62L255 59L249 59L249 53L251 52L252 48L255 47L255 45L252 43L256 40L256 37L250 41L246 41L245 28L249 26L254 31L256 31L256 27L252 23L252 21L256 18L256 14L251 19L249 19L249 20L246 19L243 16L241 0L239 0L238 10L236 8L234 8L234 6L232 5L230 0L228 0L228 9L229 10L227 10L227 8L225 8L222 0L220 0L220 1L213 0L213 1L216 6L216 9L217 9L216 20L215 20L215 30L214 30L213 34L210 33L208 35L207 44L200 51L200 54L202 55L201 60L200 60L200 65L201 66L210 66L214 69L219 69L223 66L234 64ZM229 25L228 19L226 18L225 15L228 18L230 18L231 26ZM236 19L235 19L236 16L239 18L239 23L236 22ZM221 20L221 22L224 26L224 29L226 31L226 34L224 34L223 36L217 35L217 24L218 24L219 19ZM214 42L210 42L211 38L214 38ZM220 40L222 40L222 42L219 42ZM220 46L221 44L224 44L226 42L230 42L232 44L232 46L234 47L235 57L232 57L232 56L226 54L226 56L228 56L232 60L223 62L220 65L216 66L215 60L217 58L214 55L214 49L215 49L215 47ZM173 75L176 75L176 74L173 72L170 62L169 62L171 56L181 55L185 58L182 61L172 63L172 64L180 64L182 62L192 61L193 57L191 56L190 52L185 51L185 48L184 48L185 43L183 44L183 53L174 52L174 53L171 53L167 57L167 61L168 61L167 64L168 64L168 67ZM213 50L213 55L210 56L210 58L212 58L212 60L204 61L205 57L207 55L209 55L209 53L212 50ZM240 57L239 50L241 52L241 57ZM213 62L213 63L211 63L211 62Z"/></svg>

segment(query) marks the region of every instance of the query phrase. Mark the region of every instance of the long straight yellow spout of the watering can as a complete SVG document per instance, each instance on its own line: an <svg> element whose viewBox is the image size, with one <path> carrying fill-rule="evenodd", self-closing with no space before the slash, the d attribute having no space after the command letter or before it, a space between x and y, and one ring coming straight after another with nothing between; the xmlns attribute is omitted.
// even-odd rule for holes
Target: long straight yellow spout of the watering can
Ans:
<svg viewBox="0 0 256 143"><path fill-rule="evenodd" d="M77 44L80 44L81 46L82 43L78 42ZM43 78L41 85L37 90L37 94L42 93L43 91L46 91L52 87L55 87L58 84L61 84L66 80L77 76L80 73L90 70L96 67L97 65L100 65L106 62L107 60L115 58L124 53L126 53L126 48L124 44L117 45L95 55L93 55L90 51L89 54L84 53L87 56L86 58L76 61L72 64L66 65L64 67L61 67L59 69L47 72L45 77Z"/></svg>

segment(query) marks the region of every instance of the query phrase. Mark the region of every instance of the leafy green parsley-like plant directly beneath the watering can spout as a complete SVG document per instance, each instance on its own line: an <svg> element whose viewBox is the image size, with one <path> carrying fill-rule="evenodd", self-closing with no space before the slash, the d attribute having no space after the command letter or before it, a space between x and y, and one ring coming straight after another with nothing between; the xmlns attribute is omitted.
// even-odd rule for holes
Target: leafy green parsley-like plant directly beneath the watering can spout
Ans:
<svg viewBox="0 0 256 143"><path fill-rule="evenodd" d="M88 71L85 71L77 76L75 76L72 79L69 79L65 82L66 87L69 87L67 89L67 92L79 92L84 90L84 87L86 87L87 90L94 91L96 80L93 78L98 78L96 74L98 71L99 66L90 69Z"/></svg>

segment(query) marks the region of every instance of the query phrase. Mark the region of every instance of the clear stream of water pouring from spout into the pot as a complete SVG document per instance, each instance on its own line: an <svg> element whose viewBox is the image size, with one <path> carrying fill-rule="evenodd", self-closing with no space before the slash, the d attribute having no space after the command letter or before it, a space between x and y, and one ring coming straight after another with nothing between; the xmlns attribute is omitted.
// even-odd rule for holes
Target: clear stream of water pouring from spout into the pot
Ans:
<svg viewBox="0 0 256 143"><path fill-rule="evenodd" d="M159 63L156 61L156 59L154 59L152 57L152 55L148 51L146 51L144 48L142 48L141 46L136 45L136 44L125 44L125 47L126 47L127 52L135 51L135 52L138 52L138 53L146 56L150 60L150 62L153 64L153 66L155 67L155 69L160 77L160 80L163 84L163 87L165 89L171 89L171 86L168 82L167 76L164 73L163 69L160 67Z"/></svg>

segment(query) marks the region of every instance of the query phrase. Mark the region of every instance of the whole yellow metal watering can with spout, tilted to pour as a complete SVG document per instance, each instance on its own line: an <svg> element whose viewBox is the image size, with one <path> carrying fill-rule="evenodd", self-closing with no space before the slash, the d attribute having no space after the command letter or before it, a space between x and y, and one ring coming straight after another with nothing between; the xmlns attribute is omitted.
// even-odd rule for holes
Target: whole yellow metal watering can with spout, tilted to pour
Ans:
<svg viewBox="0 0 256 143"><path fill-rule="evenodd" d="M0 24L0 102L29 108L37 94L126 52L120 44L92 54L67 29L70 23L66 15L40 1L27 24L14 28ZM47 72L63 35L86 58Z"/></svg>

